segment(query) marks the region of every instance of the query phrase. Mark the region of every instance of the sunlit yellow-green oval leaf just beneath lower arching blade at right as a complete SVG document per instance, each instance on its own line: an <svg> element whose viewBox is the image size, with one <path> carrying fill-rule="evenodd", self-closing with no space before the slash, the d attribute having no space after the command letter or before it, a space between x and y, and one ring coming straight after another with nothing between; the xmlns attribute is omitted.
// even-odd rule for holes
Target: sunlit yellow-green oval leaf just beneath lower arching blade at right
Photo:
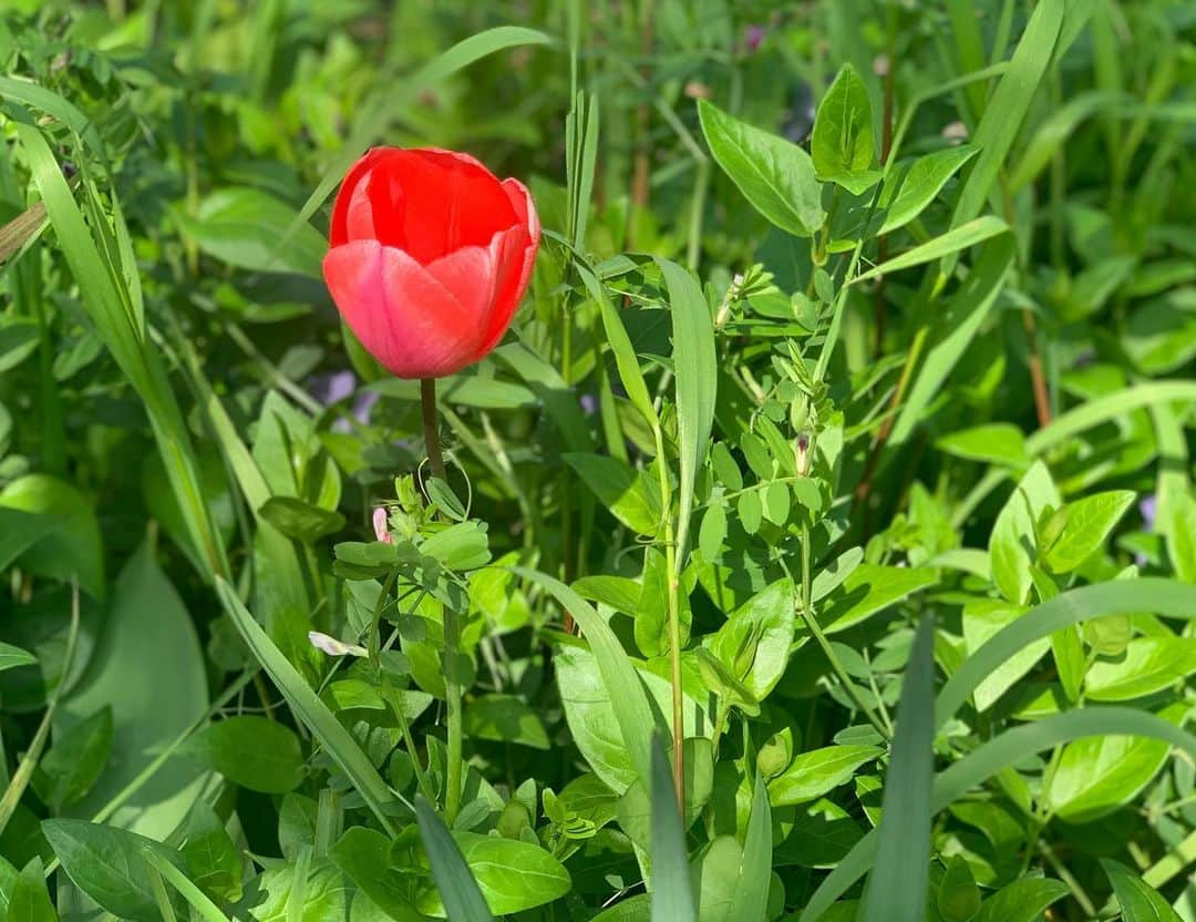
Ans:
<svg viewBox="0 0 1196 922"><path fill-rule="evenodd" d="M1159 714L1180 724L1186 705ZM1052 813L1090 823L1128 803L1166 764L1171 747L1142 736L1087 736L1063 747L1046 795Z"/></svg>

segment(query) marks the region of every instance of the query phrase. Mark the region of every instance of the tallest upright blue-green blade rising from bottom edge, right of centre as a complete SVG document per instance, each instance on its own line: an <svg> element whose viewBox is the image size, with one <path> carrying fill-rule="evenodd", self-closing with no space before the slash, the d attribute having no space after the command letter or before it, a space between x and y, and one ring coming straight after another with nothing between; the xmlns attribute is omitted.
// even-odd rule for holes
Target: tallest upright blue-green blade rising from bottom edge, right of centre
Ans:
<svg viewBox="0 0 1196 922"><path fill-rule="evenodd" d="M877 861L865 922L922 922L930 863L934 777L934 619L922 615L902 681L892 760L885 777ZM940 894L941 899L941 894ZM977 896L978 902L978 896Z"/></svg>

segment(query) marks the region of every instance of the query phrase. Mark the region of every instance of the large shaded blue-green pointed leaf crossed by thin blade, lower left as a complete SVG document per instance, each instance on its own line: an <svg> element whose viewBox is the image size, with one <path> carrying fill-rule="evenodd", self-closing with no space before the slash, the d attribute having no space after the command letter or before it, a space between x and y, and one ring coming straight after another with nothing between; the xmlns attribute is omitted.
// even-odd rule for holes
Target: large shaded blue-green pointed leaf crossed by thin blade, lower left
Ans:
<svg viewBox="0 0 1196 922"><path fill-rule="evenodd" d="M160 663L170 663L164 673ZM89 794L67 815L92 817L124 790L161 748L207 710L203 654L190 613L142 542L116 580L104 633L87 673L55 714L67 734L97 709L112 714L112 757ZM111 823L165 838L190 809L203 783L194 763L173 758L111 817Z"/></svg>

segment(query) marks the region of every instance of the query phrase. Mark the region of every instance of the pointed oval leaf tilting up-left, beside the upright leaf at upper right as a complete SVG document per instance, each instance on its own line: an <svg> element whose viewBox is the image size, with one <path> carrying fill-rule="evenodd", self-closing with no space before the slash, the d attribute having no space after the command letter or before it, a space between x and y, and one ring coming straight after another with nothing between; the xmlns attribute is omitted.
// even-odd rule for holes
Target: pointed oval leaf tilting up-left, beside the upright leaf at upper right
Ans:
<svg viewBox="0 0 1196 922"><path fill-rule="evenodd" d="M756 211L787 233L813 236L826 213L810 154L706 99L697 101L697 114L714 159Z"/></svg>

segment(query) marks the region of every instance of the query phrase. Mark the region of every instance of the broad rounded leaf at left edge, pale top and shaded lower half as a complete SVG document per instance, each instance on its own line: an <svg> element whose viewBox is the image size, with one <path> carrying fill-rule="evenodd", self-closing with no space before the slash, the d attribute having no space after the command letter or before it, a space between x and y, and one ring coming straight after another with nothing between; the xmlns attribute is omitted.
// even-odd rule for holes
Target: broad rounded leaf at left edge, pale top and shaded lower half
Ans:
<svg viewBox="0 0 1196 922"><path fill-rule="evenodd" d="M26 474L0 490L0 516L8 510L26 515L47 516L53 522L48 530L33 523L29 534L42 533L36 542L20 553L20 565L32 574L61 582L75 576L79 586L96 599L104 598L104 558L99 523L92 503L77 487L48 474ZM19 522L0 517L5 529L19 528ZM12 538L20 540L19 532Z"/></svg>

